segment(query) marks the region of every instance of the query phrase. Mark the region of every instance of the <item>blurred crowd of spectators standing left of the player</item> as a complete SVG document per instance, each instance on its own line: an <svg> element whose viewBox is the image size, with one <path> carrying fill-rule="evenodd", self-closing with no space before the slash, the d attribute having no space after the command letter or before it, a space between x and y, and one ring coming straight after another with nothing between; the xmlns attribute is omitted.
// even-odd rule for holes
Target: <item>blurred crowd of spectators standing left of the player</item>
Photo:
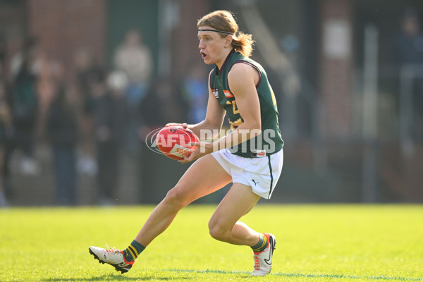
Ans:
<svg viewBox="0 0 423 282"><path fill-rule="evenodd" d="M112 204L123 154L142 154L147 134L167 122L204 118L207 73L194 65L175 83L154 75L153 61L137 30L124 35L110 68L88 49L66 68L37 38L6 54L0 38L0 206L13 196L11 160L21 175L39 175L41 144L50 148L56 204L78 204L80 173L95 178L98 204Z"/></svg>

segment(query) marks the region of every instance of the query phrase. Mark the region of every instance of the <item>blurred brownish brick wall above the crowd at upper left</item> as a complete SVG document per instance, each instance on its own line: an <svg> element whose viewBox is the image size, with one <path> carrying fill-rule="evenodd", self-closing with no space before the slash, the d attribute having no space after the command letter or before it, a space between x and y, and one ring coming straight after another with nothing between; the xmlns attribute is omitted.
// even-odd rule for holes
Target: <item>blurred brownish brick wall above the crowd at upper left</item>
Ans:
<svg viewBox="0 0 423 282"><path fill-rule="evenodd" d="M104 61L105 20L105 0L27 0L28 33L39 38L49 58L63 61L71 73L80 48Z"/></svg>

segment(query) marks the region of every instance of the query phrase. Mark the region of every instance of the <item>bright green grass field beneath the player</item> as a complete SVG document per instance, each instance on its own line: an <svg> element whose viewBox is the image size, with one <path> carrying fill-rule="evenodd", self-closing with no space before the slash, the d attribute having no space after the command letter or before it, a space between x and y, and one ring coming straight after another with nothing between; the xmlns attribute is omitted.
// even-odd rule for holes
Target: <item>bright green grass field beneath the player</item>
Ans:
<svg viewBox="0 0 423 282"><path fill-rule="evenodd" d="M269 276L193 205L121 275L90 245L126 247L154 207L0 209L0 281L423 281L423 206L258 205L243 221L278 240Z"/></svg>

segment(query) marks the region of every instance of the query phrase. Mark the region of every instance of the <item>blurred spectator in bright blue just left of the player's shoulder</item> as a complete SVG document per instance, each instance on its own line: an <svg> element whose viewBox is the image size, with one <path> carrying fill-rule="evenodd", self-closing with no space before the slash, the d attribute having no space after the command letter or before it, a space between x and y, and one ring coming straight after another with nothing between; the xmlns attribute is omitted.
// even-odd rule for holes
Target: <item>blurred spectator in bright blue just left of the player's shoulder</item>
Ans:
<svg viewBox="0 0 423 282"><path fill-rule="evenodd" d="M182 95L189 106L188 123L200 123L207 111L209 90L204 66L195 63L183 79Z"/></svg>

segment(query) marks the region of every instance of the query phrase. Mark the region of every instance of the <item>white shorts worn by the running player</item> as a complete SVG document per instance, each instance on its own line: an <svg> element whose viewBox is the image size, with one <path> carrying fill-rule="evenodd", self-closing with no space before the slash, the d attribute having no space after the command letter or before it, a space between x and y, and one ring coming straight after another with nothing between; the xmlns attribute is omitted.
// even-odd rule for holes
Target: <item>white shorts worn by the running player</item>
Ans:
<svg viewBox="0 0 423 282"><path fill-rule="evenodd" d="M233 183L251 186L252 192L270 199L283 164L283 150L266 157L244 158L232 154L229 149L213 152L212 156L232 176Z"/></svg>

